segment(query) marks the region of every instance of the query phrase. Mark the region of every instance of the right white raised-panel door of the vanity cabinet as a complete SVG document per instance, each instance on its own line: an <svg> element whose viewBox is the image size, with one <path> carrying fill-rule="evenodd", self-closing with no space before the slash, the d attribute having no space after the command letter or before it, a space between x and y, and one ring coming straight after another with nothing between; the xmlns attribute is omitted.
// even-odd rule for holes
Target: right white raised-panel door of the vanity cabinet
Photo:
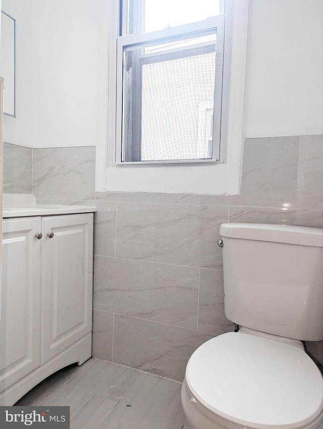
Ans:
<svg viewBox="0 0 323 429"><path fill-rule="evenodd" d="M45 362L92 331L93 214L41 222Z"/></svg>

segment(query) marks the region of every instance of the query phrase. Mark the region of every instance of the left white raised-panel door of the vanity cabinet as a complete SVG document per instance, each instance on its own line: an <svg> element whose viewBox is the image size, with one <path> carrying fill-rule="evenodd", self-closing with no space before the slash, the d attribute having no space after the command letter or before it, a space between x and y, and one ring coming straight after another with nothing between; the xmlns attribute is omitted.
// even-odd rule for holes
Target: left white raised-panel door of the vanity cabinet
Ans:
<svg viewBox="0 0 323 429"><path fill-rule="evenodd" d="M3 222L0 392L40 366L40 218Z"/></svg>

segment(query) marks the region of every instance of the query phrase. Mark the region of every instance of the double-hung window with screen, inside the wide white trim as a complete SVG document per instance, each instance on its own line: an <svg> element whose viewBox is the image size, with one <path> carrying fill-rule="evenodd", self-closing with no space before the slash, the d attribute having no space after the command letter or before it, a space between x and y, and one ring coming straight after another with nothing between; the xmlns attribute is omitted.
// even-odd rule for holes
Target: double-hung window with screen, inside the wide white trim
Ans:
<svg viewBox="0 0 323 429"><path fill-rule="evenodd" d="M224 2L120 0L116 164L220 161Z"/></svg>

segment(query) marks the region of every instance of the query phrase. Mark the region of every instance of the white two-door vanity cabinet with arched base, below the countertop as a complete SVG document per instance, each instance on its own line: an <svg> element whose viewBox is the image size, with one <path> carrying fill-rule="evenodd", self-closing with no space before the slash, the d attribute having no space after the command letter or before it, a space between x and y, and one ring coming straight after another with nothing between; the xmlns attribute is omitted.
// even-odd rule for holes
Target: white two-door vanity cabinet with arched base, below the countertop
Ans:
<svg viewBox="0 0 323 429"><path fill-rule="evenodd" d="M4 219L0 405L91 356L93 213Z"/></svg>

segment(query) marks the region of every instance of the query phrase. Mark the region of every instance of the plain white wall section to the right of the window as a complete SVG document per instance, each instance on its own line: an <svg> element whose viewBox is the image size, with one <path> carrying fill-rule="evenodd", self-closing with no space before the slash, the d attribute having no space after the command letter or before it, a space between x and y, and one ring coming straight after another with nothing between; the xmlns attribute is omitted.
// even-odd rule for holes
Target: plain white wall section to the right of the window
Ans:
<svg viewBox="0 0 323 429"><path fill-rule="evenodd" d="M250 0L244 137L323 134L322 17L322 0Z"/></svg>

